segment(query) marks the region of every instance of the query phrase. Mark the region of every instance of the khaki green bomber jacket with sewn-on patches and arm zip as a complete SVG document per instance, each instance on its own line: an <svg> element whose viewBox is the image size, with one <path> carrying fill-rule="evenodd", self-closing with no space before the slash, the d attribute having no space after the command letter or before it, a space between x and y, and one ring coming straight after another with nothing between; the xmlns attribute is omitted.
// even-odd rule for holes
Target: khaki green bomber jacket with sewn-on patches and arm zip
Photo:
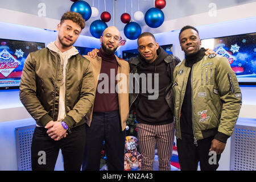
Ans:
<svg viewBox="0 0 256 182"><path fill-rule="evenodd" d="M174 69L174 115L176 137L181 139L180 113L189 71L191 72L192 127L196 140L217 132L232 135L242 104L237 77L228 60L220 55L204 56L193 65L182 61Z"/></svg>

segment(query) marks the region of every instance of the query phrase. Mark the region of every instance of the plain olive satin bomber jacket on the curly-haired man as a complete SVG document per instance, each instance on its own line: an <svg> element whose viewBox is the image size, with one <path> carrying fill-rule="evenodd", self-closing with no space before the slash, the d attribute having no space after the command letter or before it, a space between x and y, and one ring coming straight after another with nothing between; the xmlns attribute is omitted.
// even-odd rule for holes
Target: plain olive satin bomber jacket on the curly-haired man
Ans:
<svg viewBox="0 0 256 182"><path fill-rule="evenodd" d="M39 126L58 117L62 77L60 56L48 48L31 52L20 80L20 101ZM85 123L85 115L94 102L94 81L90 62L77 54L68 60L63 119L69 129Z"/></svg>

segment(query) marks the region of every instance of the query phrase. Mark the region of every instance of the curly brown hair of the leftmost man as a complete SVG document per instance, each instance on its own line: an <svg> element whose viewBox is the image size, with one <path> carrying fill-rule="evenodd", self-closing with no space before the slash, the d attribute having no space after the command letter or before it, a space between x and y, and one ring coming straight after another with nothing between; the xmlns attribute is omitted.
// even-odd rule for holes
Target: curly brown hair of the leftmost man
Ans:
<svg viewBox="0 0 256 182"><path fill-rule="evenodd" d="M68 11L64 13L60 19L60 24L64 22L64 20L72 20L73 22L79 24L81 29L85 27L85 19L82 18L82 15L76 12Z"/></svg>

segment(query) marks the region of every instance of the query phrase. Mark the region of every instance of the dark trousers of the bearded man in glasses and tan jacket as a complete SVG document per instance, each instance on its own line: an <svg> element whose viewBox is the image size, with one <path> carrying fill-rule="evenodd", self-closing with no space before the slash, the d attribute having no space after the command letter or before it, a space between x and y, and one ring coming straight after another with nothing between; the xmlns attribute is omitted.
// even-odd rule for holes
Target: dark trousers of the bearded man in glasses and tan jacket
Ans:
<svg viewBox="0 0 256 182"><path fill-rule="evenodd" d="M101 150L105 140L106 164L109 171L123 171L125 131L122 131L119 111L93 113L90 127L86 125L83 171L100 169Z"/></svg>

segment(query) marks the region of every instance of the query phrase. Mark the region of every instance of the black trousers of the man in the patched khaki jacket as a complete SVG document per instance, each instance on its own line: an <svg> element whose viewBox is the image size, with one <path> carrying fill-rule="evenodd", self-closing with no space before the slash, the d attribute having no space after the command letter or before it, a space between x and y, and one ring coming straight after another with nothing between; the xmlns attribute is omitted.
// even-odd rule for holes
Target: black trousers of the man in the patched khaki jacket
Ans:
<svg viewBox="0 0 256 182"><path fill-rule="evenodd" d="M197 141L194 144L192 135L181 134L181 139L177 139L177 152L181 171L196 171L200 162L201 171L216 171L221 155L209 153L214 137L209 137Z"/></svg>

